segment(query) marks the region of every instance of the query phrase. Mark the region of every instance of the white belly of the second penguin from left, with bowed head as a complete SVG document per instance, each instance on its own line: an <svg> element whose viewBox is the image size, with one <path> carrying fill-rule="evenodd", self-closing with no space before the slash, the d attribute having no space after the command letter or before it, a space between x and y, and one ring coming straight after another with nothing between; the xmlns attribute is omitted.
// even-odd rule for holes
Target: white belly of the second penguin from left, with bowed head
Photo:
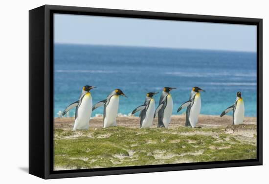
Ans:
<svg viewBox="0 0 269 184"><path fill-rule="evenodd" d="M119 107L119 96L113 95L110 98L109 104L106 108L106 117L104 119L104 128L117 126L116 124L116 117L118 113Z"/></svg>

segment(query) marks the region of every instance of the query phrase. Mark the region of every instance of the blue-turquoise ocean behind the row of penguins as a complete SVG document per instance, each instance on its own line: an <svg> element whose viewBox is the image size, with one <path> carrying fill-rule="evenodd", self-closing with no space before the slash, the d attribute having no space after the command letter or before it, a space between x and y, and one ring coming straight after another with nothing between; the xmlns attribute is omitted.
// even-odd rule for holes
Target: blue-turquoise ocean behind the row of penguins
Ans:
<svg viewBox="0 0 269 184"><path fill-rule="evenodd" d="M179 106L198 86L206 91L201 114L220 115L241 91L245 115L256 116L256 71L255 52L55 44L54 117L78 100L84 85L97 87L90 91L93 104L121 89L128 98L120 96L118 113L126 115L144 103L147 92L166 86L177 88L171 91L173 114L181 114L185 109L177 113ZM154 96L156 108L159 96ZM100 107L92 116L102 113Z"/></svg>

